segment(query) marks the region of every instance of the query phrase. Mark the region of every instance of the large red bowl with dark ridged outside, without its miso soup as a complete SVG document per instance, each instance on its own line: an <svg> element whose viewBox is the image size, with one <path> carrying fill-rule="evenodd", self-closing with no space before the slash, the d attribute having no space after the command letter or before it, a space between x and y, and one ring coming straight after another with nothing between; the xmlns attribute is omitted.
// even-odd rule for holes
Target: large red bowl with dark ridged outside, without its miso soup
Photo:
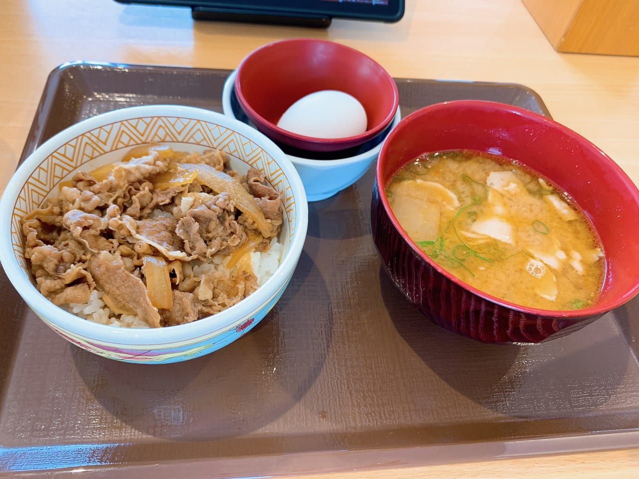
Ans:
<svg viewBox="0 0 639 479"><path fill-rule="evenodd" d="M408 238L385 185L422 153L476 149L513 158L551 179L592 220L606 254L603 291L592 307L542 310L482 293L443 270ZM483 342L562 337L639 292L639 190L603 151L566 126L502 103L461 100L413 112L385 140L371 203L373 239L397 288L424 316Z"/></svg>

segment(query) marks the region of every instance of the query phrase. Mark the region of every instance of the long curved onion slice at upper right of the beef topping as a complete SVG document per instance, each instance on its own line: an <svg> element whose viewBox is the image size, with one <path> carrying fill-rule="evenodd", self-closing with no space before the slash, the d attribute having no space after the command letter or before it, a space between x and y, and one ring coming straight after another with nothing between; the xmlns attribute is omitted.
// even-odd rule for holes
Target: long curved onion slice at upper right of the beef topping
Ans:
<svg viewBox="0 0 639 479"><path fill-rule="evenodd" d="M273 236L273 224L266 220L254 197L245 190L240 182L222 171L203 163L180 163L187 171L197 171L197 181L211 188L215 193L227 193L235 206L254 220L259 231L266 238Z"/></svg>

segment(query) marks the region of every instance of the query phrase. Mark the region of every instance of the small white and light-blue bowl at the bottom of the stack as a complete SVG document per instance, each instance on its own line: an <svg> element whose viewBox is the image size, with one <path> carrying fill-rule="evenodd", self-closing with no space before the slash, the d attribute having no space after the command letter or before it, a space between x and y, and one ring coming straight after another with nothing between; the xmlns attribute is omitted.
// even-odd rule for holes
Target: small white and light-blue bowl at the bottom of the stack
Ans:
<svg viewBox="0 0 639 479"><path fill-rule="evenodd" d="M235 83L235 71L227 77L224 82L224 89L222 90L222 109L224 114L233 119L242 119L242 121L248 122L245 118L237 118L233 110L232 95ZM304 189L306 190L306 197L308 201L319 201L331 197L337 192L340 192L344 188L352 185L366 173L367 169L371 166L377 155L380 153L381 144L383 138L390 132L390 129L394 128L401 120L401 112L399 107L392 119L390 128L387 128L383 133L383 137L378 137L373 148L358 153L355 156L348 156L346 158L337 158L335 160L314 160L311 158L302 158L300 156L286 155L291 163L295 166L295 169L302 178ZM247 123L250 125L250 123Z"/></svg>

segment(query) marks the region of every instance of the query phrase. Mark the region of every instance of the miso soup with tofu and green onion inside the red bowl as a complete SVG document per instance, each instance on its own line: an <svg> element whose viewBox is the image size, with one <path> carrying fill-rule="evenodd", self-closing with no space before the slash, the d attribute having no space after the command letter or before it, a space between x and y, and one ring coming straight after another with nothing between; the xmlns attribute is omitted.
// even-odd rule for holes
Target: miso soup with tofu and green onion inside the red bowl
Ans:
<svg viewBox="0 0 639 479"><path fill-rule="evenodd" d="M553 310L588 307L601 292L604 252L589 219L514 160L425 153L394 174L386 193L424 253L481 291Z"/></svg>

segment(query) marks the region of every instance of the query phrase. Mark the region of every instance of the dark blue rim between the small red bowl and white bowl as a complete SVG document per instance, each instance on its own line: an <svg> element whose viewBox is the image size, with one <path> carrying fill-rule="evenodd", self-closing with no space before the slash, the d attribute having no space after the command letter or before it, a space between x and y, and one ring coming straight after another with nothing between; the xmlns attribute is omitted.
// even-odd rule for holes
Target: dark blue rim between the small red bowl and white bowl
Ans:
<svg viewBox="0 0 639 479"><path fill-rule="evenodd" d="M255 128L255 125L251 123L249 117L243 112L242 107L240 107L240 102L235 93L235 86L233 80L235 79L236 70L229 73L229 76L226 79L226 82L229 83L229 106L231 108L231 112L233 116L242 121L242 123L246 123L249 126ZM225 112L226 113L226 112ZM337 151L310 151L307 149L293 148L287 144L275 141L270 139L273 143L275 143L279 148L286 153L286 155L296 156L298 158L307 158L309 160L343 160L344 158L351 158L352 156L361 155L362 153L366 153L366 151L370 151L375 148L381 142L384 141L390 130L392 130L394 121L391 119L388 125L385 126L380 133L375 135L369 141L364 142L360 145L353 146L351 148L340 149Z"/></svg>

